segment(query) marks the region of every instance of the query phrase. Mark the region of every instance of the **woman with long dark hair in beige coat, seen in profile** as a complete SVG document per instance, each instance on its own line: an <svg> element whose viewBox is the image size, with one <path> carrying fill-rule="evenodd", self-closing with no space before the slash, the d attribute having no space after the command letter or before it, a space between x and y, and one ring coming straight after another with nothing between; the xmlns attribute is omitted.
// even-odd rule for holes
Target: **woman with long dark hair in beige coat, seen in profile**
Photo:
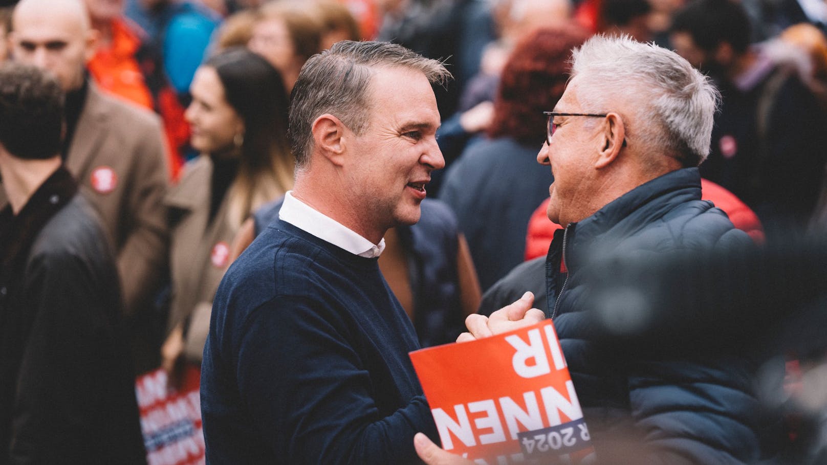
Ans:
<svg viewBox="0 0 827 465"><path fill-rule="evenodd" d="M200 363L213 295L229 244L261 204L293 186L286 138L288 97L280 74L256 53L224 50L198 68L185 116L201 152L166 199L172 296L162 355Z"/></svg>

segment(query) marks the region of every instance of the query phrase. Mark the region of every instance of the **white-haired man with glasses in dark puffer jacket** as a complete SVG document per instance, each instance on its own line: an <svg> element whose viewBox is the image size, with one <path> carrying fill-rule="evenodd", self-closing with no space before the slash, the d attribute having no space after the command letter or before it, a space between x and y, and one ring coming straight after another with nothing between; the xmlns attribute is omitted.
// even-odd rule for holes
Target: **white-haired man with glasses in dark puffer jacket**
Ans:
<svg viewBox="0 0 827 465"><path fill-rule="evenodd" d="M589 292L607 256L751 247L722 210L700 199L697 165L709 152L718 93L676 53L628 37L594 36L572 60L537 156L554 175L548 218L564 228L544 262L514 268L484 304L499 308L526 290L545 291L544 317L527 319L553 320L600 463L757 463L765 425L753 392L754 361L726 344L710 351L702 344L636 343L669 309L648 311L645 299L630 300L633 291L619 287L608 308L620 317L607 324ZM469 333L458 340L526 323L503 322L502 310L471 315ZM415 447L431 465L466 463L423 436Z"/></svg>

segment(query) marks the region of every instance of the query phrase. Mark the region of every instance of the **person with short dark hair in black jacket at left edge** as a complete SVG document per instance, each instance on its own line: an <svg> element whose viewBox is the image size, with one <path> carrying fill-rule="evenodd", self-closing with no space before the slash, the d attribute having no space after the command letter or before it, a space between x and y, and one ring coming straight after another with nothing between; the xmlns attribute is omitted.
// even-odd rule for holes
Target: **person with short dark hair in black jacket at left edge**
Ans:
<svg viewBox="0 0 827 465"><path fill-rule="evenodd" d="M146 465L115 258L60 157L64 90L0 65L0 463Z"/></svg>

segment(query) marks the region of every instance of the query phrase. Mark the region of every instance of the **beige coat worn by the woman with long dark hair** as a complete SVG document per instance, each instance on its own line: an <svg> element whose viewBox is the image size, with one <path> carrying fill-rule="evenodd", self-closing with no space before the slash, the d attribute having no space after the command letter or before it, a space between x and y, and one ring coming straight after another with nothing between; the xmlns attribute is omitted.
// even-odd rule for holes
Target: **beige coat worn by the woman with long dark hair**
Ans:
<svg viewBox="0 0 827 465"><path fill-rule="evenodd" d="M184 334L184 354L200 362L209 330L213 296L229 264L232 238L240 224L227 222L225 195L213 223L208 224L213 162L199 156L184 167L184 175L165 199L170 218L172 304L168 330L190 317Z"/></svg>

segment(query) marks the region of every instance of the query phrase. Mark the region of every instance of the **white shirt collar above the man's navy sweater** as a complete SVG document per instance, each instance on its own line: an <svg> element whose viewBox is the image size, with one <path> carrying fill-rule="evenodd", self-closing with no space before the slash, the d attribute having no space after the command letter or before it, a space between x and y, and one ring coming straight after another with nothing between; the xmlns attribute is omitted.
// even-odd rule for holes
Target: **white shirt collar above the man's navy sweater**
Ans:
<svg viewBox="0 0 827 465"><path fill-rule="evenodd" d="M296 199L292 190L284 194L284 203L281 204L279 218L353 255L375 258L385 250L384 237L378 245L368 241L342 223Z"/></svg>

